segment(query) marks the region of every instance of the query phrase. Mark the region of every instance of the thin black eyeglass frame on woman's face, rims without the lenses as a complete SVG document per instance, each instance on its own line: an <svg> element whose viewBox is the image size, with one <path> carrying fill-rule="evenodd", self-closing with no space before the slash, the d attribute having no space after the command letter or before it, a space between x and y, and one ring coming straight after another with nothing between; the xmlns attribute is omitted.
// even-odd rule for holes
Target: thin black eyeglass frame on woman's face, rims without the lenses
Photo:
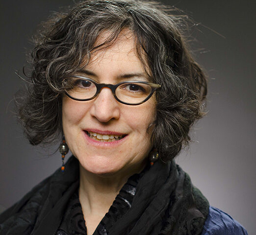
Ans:
<svg viewBox="0 0 256 235"><path fill-rule="evenodd" d="M88 98L88 99L77 99L77 98L74 98L74 97L72 97L70 94L68 94L67 91L65 91L65 93L66 93L66 95L67 95L68 97L70 97L71 99L77 100L77 101L88 101L88 100L92 100L92 99L96 98L96 97L100 94L102 88L107 87L107 88L109 88L109 89L111 90L112 94L114 95L115 99L116 99L118 102L120 102L120 103L122 103L122 104L127 104L127 105L139 105L139 104L143 104L143 103L145 103L147 100L149 100L149 98L154 94L154 92L156 91L156 89L158 89L158 88L161 87L161 85L159 85L159 84L155 84L155 83L151 83L151 82L144 82L144 81L124 81L124 82L117 83L116 85L113 85L113 84L106 84L106 83L97 83L97 82L95 82L94 80L92 80L92 79L90 79L90 78L88 78L88 77L79 76L79 75L74 75L74 76L72 76L72 77L66 77L66 78L63 79L63 81L64 81L65 79L69 79L69 78L73 78L73 77L90 81L90 82L92 82L92 83L96 86L96 88L97 88L97 91L96 91L95 95L92 96L91 98ZM148 95L148 97L147 97L146 99L144 99L143 101L141 101L141 102L139 102L139 103L130 104L130 103L123 102L122 100L120 100L120 99L116 96L116 89L117 89L117 87L119 87L119 86L122 85L122 84L129 84L129 83L138 83L138 84L146 84L146 85L149 85L149 86L151 87L151 93Z"/></svg>

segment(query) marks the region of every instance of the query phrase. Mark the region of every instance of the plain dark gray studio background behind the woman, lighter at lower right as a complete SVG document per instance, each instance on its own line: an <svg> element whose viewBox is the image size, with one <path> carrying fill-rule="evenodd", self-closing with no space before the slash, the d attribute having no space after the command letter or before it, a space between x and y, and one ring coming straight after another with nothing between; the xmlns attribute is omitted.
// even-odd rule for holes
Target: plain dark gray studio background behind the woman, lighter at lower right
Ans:
<svg viewBox="0 0 256 235"><path fill-rule="evenodd" d="M254 234L255 3L242 0L163 1L197 23L197 60L209 75L208 113L193 128L193 142L177 162L212 206ZM23 82L29 38L37 25L72 0L0 1L0 207L7 208L60 166L56 146L33 147L16 124L13 96ZM205 26L204 26L205 25ZM217 33L215 33L216 31ZM222 36L220 36L220 35Z"/></svg>

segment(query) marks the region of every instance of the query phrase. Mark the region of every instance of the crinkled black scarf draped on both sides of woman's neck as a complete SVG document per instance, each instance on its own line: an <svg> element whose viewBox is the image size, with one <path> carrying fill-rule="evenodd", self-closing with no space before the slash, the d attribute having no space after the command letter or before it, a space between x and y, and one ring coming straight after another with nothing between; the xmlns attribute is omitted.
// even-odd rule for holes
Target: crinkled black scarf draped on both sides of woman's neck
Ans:
<svg viewBox="0 0 256 235"><path fill-rule="evenodd" d="M51 177L0 215L0 235L55 235L69 199L78 187L78 161ZM209 204L174 162L160 161L139 179L131 207L109 235L200 235Z"/></svg>

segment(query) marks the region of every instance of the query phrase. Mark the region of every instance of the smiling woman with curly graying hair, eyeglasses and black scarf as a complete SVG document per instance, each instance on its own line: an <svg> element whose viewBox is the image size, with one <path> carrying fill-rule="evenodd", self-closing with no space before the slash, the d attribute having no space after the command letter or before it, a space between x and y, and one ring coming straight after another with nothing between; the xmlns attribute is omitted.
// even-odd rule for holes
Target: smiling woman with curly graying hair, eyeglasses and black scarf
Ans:
<svg viewBox="0 0 256 235"><path fill-rule="evenodd" d="M20 118L31 144L62 138L63 165L0 216L1 235L247 234L173 161L206 95L183 27L133 0L44 25Z"/></svg>

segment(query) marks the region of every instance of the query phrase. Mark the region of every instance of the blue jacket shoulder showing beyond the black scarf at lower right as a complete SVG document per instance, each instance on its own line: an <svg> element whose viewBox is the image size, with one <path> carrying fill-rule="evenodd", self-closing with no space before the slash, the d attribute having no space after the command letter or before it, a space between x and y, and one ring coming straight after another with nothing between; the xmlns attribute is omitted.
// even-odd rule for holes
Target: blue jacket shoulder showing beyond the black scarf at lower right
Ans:
<svg viewBox="0 0 256 235"><path fill-rule="evenodd" d="M209 207L202 235L248 235L247 231L229 214Z"/></svg>

